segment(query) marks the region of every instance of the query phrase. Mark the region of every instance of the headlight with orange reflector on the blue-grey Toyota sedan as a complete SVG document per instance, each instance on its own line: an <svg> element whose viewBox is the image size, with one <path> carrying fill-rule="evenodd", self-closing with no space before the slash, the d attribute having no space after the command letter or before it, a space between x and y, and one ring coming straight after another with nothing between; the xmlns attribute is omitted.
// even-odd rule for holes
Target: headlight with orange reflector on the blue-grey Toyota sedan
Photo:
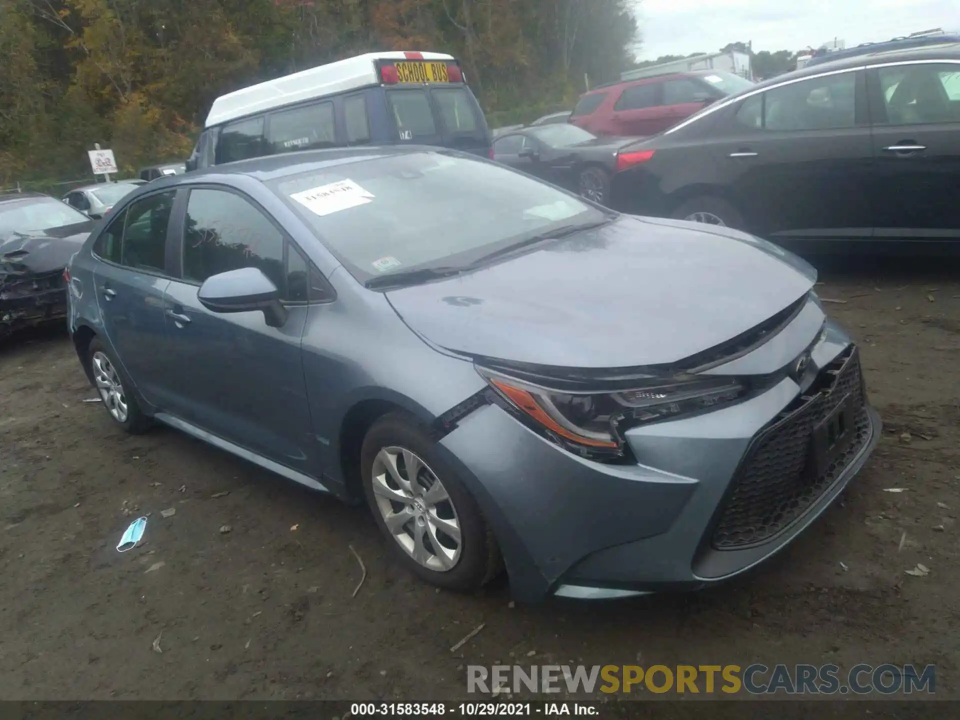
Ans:
<svg viewBox="0 0 960 720"><path fill-rule="evenodd" d="M524 420L533 420L537 429L581 454L619 454L621 433L630 427L695 414L746 392L733 378L683 376L640 380L634 387L612 392L565 392L477 370Z"/></svg>

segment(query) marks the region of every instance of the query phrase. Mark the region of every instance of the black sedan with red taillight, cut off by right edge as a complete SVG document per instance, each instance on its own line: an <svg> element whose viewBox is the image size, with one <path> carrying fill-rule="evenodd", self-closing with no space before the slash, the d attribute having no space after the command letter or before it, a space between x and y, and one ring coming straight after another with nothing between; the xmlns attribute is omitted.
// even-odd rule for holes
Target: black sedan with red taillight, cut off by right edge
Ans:
<svg viewBox="0 0 960 720"><path fill-rule="evenodd" d="M960 44L781 75L623 149L620 163L612 206L626 212L797 250L956 252Z"/></svg>

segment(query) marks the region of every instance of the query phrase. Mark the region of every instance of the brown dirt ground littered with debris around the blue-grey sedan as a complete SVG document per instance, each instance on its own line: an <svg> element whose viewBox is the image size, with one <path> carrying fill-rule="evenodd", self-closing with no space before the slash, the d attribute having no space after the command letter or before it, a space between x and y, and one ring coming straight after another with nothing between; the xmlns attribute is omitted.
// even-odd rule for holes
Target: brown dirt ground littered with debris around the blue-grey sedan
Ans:
<svg viewBox="0 0 960 720"><path fill-rule="evenodd" d="M124 435L83 402L65 332L23 334L0 346L0 698L476 700L464 666L513 658L935 663L937 695L960 697L958 278L936 262L822 273L885 424L873 458L749 577L604 604L423 585L363 508L171 429ZM144 514L147 542L118 554ZM905 574L918 563L928 575Z"/></svg>

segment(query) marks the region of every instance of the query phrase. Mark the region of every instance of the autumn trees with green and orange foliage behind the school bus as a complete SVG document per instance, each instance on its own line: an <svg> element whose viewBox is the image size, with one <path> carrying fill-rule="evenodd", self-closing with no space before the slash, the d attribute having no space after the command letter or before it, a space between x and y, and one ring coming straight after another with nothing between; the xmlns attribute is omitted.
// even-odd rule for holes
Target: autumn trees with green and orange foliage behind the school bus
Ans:
<svg viewBox="0 0 960 720"><path fill-rule="evenodd" d="M0 185L189 154L212 100L374 50L460 58L488 112L569 105L633 58L631 0L0 0ZM526 109L525 109L526 108Z"/></svg>

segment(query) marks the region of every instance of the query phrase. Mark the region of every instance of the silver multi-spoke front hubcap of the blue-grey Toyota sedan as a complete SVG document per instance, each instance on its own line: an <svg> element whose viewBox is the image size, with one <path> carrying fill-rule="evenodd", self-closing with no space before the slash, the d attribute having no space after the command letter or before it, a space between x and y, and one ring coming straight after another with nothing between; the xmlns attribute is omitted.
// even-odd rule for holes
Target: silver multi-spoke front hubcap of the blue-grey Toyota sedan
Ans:
<svg viewBox="0 0 960 720"><path fill-rule="evenodd" d="M427 569L446 572L460 560L460 518L444 484L417 453L384 447L373 459L377 510L400 547Z"/></svg>

